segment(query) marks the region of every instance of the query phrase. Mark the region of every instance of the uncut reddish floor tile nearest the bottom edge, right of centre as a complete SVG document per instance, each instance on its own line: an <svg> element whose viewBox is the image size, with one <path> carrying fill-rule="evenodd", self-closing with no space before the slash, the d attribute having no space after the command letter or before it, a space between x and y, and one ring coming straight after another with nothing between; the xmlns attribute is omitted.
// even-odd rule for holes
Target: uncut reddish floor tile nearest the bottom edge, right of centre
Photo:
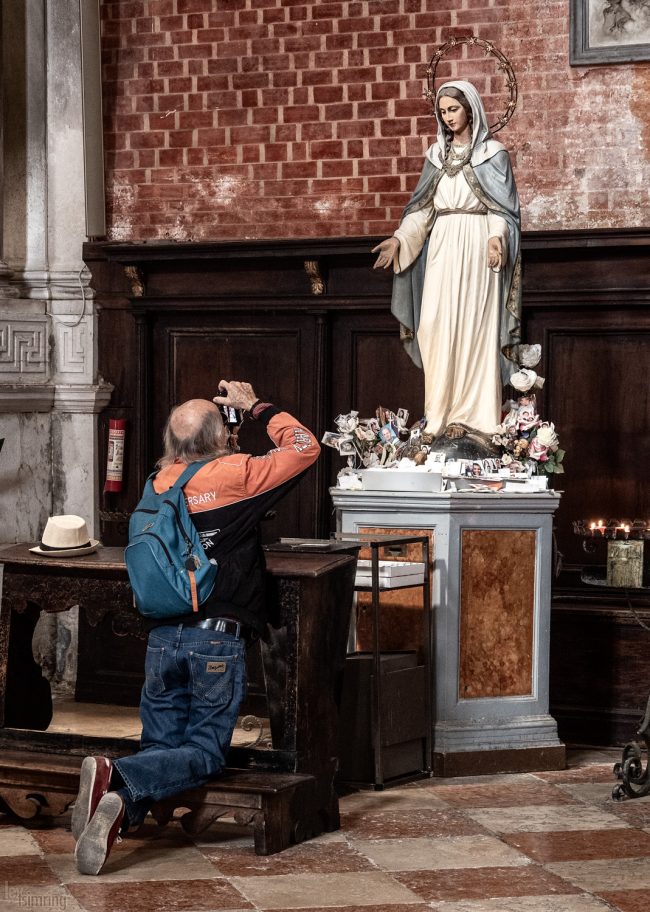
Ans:
<svg viewBox="0 0 650 912"><path fill-rule="evenodd" d="M549 896L581 893L568 881L539 865L517 868L464 868L393 874L427 902L458 902L499 896Z"/></svg>

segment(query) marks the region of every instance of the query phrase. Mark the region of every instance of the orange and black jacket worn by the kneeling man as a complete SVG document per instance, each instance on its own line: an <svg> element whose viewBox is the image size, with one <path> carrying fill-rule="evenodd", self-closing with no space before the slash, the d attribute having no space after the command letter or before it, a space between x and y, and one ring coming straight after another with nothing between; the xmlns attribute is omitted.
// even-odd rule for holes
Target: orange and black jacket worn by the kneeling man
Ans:
<svg viewBox="0 0 650 912"><path fill-rule="evenodd" d="M256 419L266 425L275 448L264 456L233 453L214 459L184 491L208 559L219 565L214 591L198 616L234 617L263 634L267 616L259 522L316 461L320 446L311 431L274 405L256 412ZM184 469L180 462L161 469L154 479L156 493L170 488ZM184 615L164 623L187 621Z"/></svg>

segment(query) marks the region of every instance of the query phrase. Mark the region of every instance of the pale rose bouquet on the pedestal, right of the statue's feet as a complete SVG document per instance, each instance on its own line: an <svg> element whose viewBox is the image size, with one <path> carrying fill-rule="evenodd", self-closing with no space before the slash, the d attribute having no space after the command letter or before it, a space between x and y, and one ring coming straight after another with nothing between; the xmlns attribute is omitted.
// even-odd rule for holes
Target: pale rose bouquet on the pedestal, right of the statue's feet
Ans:
<svg viewBox="0 0 650 912"><path fill-rule="evenodd" d="M510 410L497 427L492 443L501 447L501 464L511 471L527 471L531 475L564 472L564 450L555 425L539 417L533 394L510 401Z"/></svg>

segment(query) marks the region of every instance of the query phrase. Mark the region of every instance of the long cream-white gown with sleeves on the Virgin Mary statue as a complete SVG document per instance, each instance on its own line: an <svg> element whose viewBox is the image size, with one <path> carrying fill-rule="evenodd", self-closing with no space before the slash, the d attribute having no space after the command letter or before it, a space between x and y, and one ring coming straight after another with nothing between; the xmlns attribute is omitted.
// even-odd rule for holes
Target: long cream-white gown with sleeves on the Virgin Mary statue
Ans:
<svg viewBox="0 0 650 912"><path fill-rule="evenodd" d="M395 271L400 272L415 260L431 231L417 332L426 430L437 435L459 422L493 434L501 419L500 275L488 266L488 238L501 239L505 256L508 224L486 212L462 171L442 175L433 204L439 213L433 229L433 211L420 209L395 232L400 242ZM449 209L455 211L445 214Z"/></svg>

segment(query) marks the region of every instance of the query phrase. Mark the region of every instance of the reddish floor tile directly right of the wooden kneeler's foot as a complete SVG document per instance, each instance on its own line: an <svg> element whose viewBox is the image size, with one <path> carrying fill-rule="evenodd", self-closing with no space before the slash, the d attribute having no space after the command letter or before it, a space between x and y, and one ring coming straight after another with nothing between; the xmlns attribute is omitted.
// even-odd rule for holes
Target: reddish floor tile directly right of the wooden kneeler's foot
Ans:
<svg viewBox="0 0 650 912"><path fill-rule="evenodd" d="M395 811L341 815L341 830L353 839L400 839L417 836L478 836L488 833L455 810Z"/></svg>

